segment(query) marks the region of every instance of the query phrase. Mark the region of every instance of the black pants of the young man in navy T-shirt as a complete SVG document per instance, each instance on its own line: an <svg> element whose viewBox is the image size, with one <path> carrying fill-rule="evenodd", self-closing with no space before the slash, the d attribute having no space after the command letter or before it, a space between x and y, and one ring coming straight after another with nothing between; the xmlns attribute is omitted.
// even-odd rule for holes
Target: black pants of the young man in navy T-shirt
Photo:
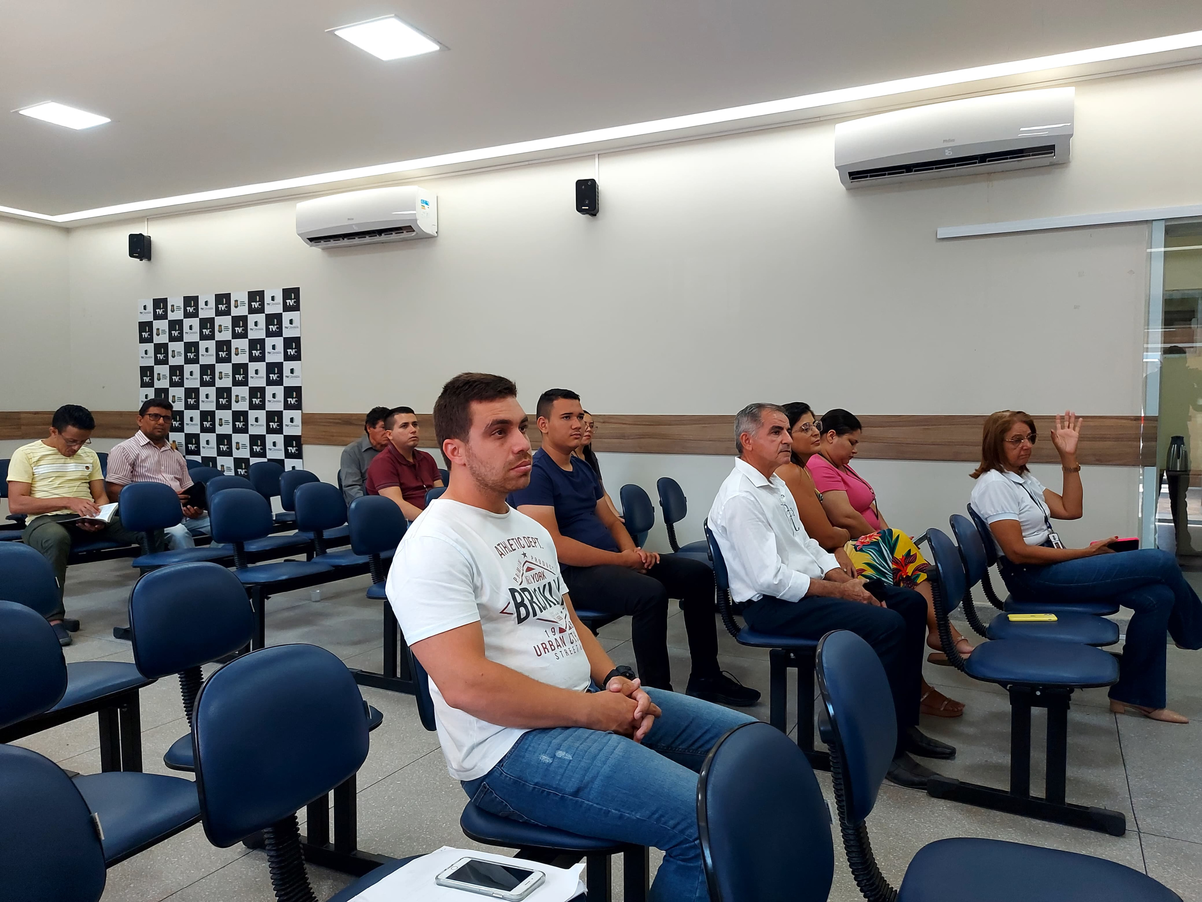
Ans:
<svg viewBox="0 0 1202 902"><path fill-rule="evenodd" d="M672 688L668 664L670 598L679 599L684 611L692 675L708 677L719 673L714 571L700 560L665 554L645 574L614 564L560 564L559 569L575 607L631 617L635 663L643 686Z"/></svg>

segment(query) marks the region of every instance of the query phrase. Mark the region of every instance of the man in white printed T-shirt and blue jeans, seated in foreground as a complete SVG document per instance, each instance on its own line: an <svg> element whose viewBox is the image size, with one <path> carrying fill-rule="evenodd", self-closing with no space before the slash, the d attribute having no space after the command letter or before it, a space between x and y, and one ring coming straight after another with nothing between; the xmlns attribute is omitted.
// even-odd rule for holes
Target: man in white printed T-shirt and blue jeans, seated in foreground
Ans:
<svg viewBox="0 0 1202 902"><path fill-rule="evenodd" d="M642 689L581 624L551 534L505 503L530 481L526 422L504 376L463 373L442 387L434 429L450 488L388 574L430 675L447 769L494 814L662 849L651 897L702 902L696 771L750 718Z"/></svg>

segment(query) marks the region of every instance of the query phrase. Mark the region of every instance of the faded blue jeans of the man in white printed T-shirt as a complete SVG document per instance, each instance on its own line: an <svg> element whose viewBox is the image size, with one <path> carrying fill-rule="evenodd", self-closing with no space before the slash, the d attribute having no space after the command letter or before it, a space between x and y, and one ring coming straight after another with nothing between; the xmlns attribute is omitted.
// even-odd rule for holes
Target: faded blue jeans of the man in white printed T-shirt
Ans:
<svg viewBox="0 0 1202 902"><path fill-rule="evenodd" d="M484 811L662 849L651 902L708 902L697 838L697 771L719 738L752 718L664 689L643 743L578 726L530 730L488 773L463 783Z"/></svg>

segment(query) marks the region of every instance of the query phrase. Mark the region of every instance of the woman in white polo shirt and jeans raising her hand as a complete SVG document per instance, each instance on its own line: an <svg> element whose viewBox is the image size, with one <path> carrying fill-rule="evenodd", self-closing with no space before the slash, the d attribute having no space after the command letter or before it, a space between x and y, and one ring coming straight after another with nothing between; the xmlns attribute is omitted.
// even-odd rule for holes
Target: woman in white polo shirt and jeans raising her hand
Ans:
<svg viewBox="0 0 1202 902"><path fill-rule="evenodd" d="M1111 711L1126 708L1153 720L1189 720L1165 707L1165 631L1179 648L1202 648L1202 601L1182 576L1172 554L1155 548L1114 553L1105 539L1088 548L1065 548L1052 518L1078 520L1083 489L1077 440L1081 420L1057 416L1052 444L1060 456L1064 486L1057 494L1027 469L1035 446L1035 422L1020 410L1000 410L984 422L981 465L972 474L972 510L989 524L1002 557L1006 588L1019 600L1111 599L1132 610L1111 687ZM1117 538L1117 536L1115 536Z"/></svg>

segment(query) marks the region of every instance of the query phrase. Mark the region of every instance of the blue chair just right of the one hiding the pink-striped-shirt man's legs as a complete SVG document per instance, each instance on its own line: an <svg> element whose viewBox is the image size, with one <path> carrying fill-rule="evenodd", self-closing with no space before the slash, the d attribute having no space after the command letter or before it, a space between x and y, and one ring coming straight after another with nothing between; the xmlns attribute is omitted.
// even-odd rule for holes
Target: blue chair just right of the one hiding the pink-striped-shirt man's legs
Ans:
<svg viewBox="0 0 1202 902"><path fill-rule="evenodd" d="M233 545L237 566L234 574L250 592L256 618L255 637L251 642L254 648L262 648L266 645L266 604L272 594L320 586L331 578L339 578L333 575L331 566L320 560L282 560L251 565L249 546L268 538L267 534L272 529L272 505L254 489L225 488L210 494L209 523L214 541Z"/></svg>

